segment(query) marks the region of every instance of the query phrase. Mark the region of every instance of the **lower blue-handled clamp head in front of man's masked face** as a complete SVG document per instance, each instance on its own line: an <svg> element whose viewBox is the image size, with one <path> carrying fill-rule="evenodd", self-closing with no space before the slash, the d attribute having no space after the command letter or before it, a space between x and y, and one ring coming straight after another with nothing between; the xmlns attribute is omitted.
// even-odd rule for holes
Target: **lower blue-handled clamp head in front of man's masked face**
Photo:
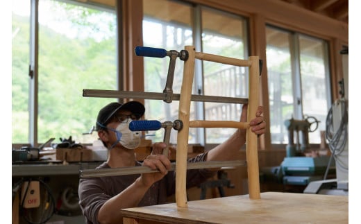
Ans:
<svg viewBox="0 0 361 224"><path fill-rule="evenodd" d="M169 139L171 137L171 128L174 130L181 130L183 128L183 123L181 120L171 121L131 121L129 123L129 129L131 131L144 131L144 130L159 130L160 128L165 128L165 137L163 142L167 144L166 148L163 149L163 155L168 156L169 152Z"/></svg>

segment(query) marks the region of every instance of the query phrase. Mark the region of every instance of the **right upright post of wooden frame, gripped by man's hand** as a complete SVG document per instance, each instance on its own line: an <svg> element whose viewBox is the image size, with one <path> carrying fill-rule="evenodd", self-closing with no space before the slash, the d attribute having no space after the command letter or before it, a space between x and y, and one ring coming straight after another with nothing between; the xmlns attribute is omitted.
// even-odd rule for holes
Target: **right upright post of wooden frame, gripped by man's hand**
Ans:
<svg viewBox="0 0 361 224"><path fill-rule="evenodd" d="M249 104L247 121L251 121L258 108L258 85L260 81L260 62L258 56L249 57ZM249 198L260 199L260 175L258 167L258 137L251 131L246 130L246 160L249 179Z"/></svg>

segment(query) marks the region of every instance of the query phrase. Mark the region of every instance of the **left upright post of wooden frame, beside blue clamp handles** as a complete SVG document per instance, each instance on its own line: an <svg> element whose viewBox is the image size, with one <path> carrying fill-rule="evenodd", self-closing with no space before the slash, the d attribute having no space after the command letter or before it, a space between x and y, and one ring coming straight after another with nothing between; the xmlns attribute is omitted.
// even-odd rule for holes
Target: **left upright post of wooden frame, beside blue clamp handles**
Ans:
<svg viewBox="0 0 361 224"><path fill-rule="evenodd" d="M187 207L187 151L190 123L190 103L194 76L194 46L185 46L188 59L184 63L181 97L179 99L178 119L183 121L182 130L177 135L176 154L176 203L178 207Z"/></svg>

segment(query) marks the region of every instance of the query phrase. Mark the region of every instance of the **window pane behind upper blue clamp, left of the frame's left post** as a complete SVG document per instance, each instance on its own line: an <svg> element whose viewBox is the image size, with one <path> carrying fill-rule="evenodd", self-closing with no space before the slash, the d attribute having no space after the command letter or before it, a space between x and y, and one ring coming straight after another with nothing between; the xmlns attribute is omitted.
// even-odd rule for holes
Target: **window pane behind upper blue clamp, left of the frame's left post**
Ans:
<svg viewBox="0 0 361 224"><path fill-rule="evenodd" d="M175 1L143 1L143 45L165 49L167 51L181 51L186 45L193 44L192 33L192 8L184 3ZM159 13L162 8L162 13ZM180 12L176 15L174 9ZM183 79L183 61L177 58L174 69L173 92L181 92ZM144 92L162 92L165 89L169 69L169 57L149 58L144 57ZM146 119L174 121L178 119L179 101L165 103L161 100L145 100ZM194 118L194 103L191 105L191 117ZM162 141L164 130L159 130L149 135L153 141ZM190 129L190 143L195 141L195 130ZM171 131L171 143L176 143L176 131Z"/></svg>

